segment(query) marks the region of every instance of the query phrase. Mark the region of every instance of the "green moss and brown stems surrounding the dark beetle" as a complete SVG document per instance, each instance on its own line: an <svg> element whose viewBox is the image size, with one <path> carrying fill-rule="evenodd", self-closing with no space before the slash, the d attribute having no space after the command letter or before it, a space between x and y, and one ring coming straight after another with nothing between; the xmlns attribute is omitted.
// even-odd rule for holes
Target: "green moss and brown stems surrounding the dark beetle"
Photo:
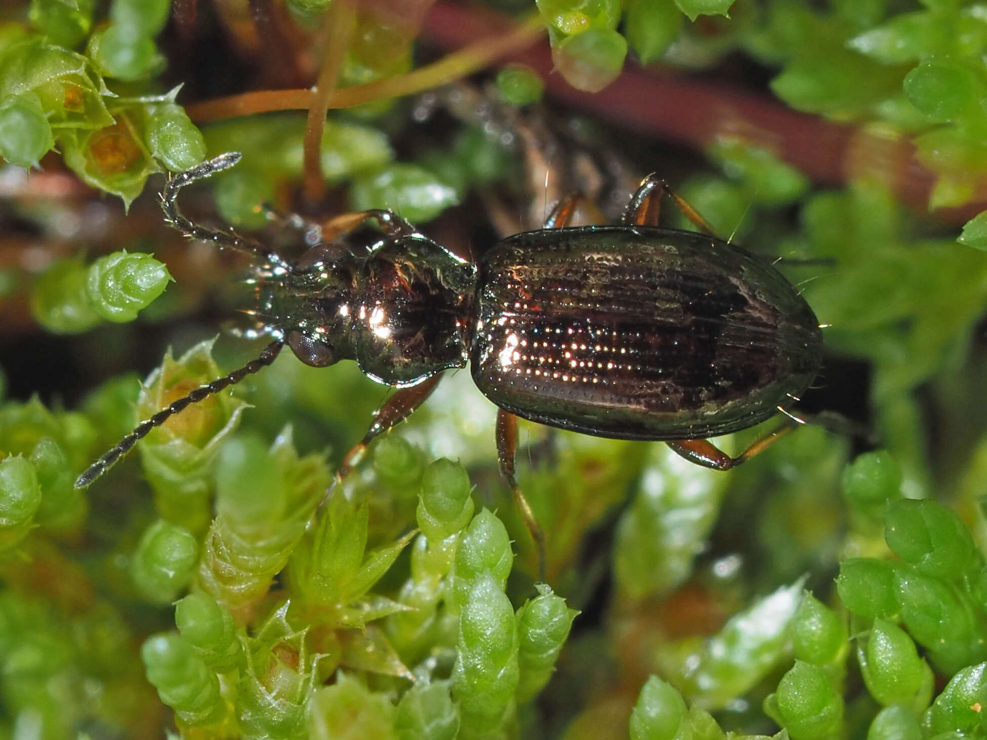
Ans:
<svg viewBox="0 0 987 740"><path fill-rule="evenodd" d="M985 52L959 0L4 3L0 738L987 734ZM547 584L465 372L328 500L389 391L288 352L77 490L259 351L250 265L156 202L234 150L187 211L288 255L277 213L469 258L657 171L782 259L800 408L870 433L721 474L522 423Z"/></svg>

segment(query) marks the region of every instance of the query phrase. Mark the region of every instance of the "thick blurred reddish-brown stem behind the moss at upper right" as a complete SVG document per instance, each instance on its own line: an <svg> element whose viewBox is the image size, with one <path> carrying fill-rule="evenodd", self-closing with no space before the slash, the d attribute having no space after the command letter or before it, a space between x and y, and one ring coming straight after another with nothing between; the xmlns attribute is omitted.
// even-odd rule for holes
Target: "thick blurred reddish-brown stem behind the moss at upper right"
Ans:
<svg viewBox="0 0 987 740"><path fill-rule="evenodd" d="M444 49L476 37L504 33L510 19L472 5L443 0L432 6L422 38ZM766 96L727 89L687 77L660 74L628 64L609 87L584 93L555 73L551 50L541 43L514 51L546 80L548 94L616 125L706 151L722 135L740 136L773 151L816 183L844 185L871 178L889 185L908 205L924 210L936 175L915 159L904 137L875 136L859 126L833 123L793 111ZM939 209L936 217L962 223L987 208L987 183L975 200L960 208Z"/></svg>

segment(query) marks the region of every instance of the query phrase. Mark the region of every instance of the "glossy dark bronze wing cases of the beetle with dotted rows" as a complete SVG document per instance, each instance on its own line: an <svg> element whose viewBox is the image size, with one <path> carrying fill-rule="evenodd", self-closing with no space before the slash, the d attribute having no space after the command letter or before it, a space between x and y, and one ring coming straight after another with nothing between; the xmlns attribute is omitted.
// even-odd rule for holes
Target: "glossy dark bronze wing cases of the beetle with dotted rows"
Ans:
<svg viewBox="0 0 987 740"><path fill-rule="evenodd" d="M531 231L478 263L473 379L523 418L698 439L790 405L819 369L812 310L763 259L648 226Z"/></svg>

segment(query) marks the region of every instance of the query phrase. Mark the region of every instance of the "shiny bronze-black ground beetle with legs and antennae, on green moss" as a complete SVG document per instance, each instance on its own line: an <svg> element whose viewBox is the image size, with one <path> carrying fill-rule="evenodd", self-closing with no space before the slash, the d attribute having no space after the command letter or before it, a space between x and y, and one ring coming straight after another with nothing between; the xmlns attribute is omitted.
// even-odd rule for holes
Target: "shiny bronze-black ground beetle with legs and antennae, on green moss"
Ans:
<svg viewBox="0 0 987 740"><path fill-rule="evenodd" d="M539 550L542 534L514 476L516 416L585 434L661 440L717 470L763 450L790 419L738 457L706 437L745 429L797 400L819 368L815 315L771 264L721 241L655 176L631 198L620 226L569 227L578 196L545 228L504 239L476 264L459 259L390 210L312 225L319 243L294 261L233 231L190 221L176 199L185 185L235 165L224 154L173 177L162 194L170 224L192 239L251 256L261 355L141 422L87 470L99 478L169 416L269 365L286 343L304 363L354 359L399 390L381 407L354 455L406 418L447 368L469 361L500 411L496 445ZM669 194L709 235L657 226ZM354 254L341 237L371 219L382 236ZM544 558L543 558L544 561Z"/></svg>

